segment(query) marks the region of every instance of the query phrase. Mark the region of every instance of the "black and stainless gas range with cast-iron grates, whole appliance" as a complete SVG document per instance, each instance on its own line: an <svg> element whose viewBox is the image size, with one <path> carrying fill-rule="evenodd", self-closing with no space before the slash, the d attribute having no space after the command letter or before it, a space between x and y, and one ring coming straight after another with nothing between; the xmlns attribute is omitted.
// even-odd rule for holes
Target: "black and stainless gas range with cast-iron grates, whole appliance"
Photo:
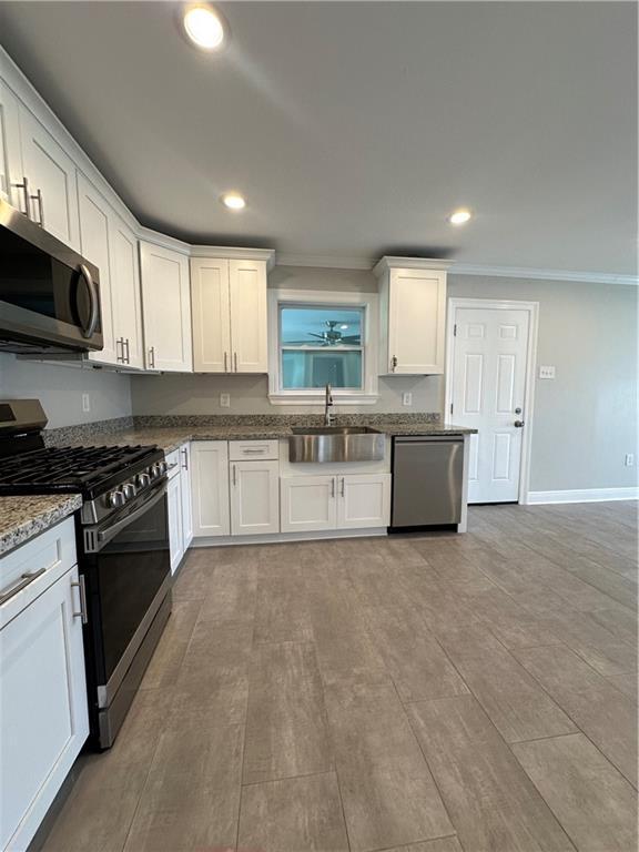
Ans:
<svg viewBox="0 0 639 852"><path fill-rule="evenodd" d="M109 748L171 612L158 447L47 447L37 399L0 402L0 495L80 494L75 518L91 744Z"/></svg>

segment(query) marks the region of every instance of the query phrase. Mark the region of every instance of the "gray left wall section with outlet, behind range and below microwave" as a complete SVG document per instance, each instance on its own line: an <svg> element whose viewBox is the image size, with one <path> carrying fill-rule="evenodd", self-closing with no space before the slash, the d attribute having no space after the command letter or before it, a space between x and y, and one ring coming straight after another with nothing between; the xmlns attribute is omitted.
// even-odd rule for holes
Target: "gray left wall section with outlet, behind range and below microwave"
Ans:
<svg viewBox="0 0 639 852"><path fill-rule="evenodd" d="M91 410L82 410L89 394ZM49 428L75 426L131 414L129 376L78 365L40 364L0 355L0 399L37 398L49 417Z"/></svg>

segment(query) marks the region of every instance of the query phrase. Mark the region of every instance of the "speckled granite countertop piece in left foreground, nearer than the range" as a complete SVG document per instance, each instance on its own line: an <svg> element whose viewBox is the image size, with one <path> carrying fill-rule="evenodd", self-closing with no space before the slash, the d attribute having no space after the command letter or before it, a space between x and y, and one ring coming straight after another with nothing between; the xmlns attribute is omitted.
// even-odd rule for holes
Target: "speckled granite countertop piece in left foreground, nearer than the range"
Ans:
<svg viewBox="0 0 639 852"><path fill-rule="evenodd" d="M44 532L80 506L79 494L0 497L0 556Z"/></svg>

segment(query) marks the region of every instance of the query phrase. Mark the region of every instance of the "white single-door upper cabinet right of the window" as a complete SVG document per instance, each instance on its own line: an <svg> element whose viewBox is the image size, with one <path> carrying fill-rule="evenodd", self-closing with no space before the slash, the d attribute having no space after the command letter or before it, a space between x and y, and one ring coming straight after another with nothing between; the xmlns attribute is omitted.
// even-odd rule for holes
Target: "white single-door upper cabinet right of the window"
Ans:
<svg viewBox="0 0 639 852"><path fill-rule="evenodd" d="M437 261L383 257L379 277L379 373L433 375L444 373L446 272Z"/></svg>

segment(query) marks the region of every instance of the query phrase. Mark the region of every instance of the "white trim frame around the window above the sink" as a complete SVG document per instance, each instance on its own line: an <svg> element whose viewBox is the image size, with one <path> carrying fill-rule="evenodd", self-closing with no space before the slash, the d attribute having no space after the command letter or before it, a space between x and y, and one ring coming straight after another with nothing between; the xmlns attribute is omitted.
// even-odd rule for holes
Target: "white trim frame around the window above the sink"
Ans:
<svg viewBox="0 0 639 852"><path fill-rule="evenodd" d="M329 290L268 290L268 400L271 405L324 405L324 388L283 388L280 368L280 304L364 308L362 390L336 387L336 405L374 405L377 390L377 294Z"/></svg>

